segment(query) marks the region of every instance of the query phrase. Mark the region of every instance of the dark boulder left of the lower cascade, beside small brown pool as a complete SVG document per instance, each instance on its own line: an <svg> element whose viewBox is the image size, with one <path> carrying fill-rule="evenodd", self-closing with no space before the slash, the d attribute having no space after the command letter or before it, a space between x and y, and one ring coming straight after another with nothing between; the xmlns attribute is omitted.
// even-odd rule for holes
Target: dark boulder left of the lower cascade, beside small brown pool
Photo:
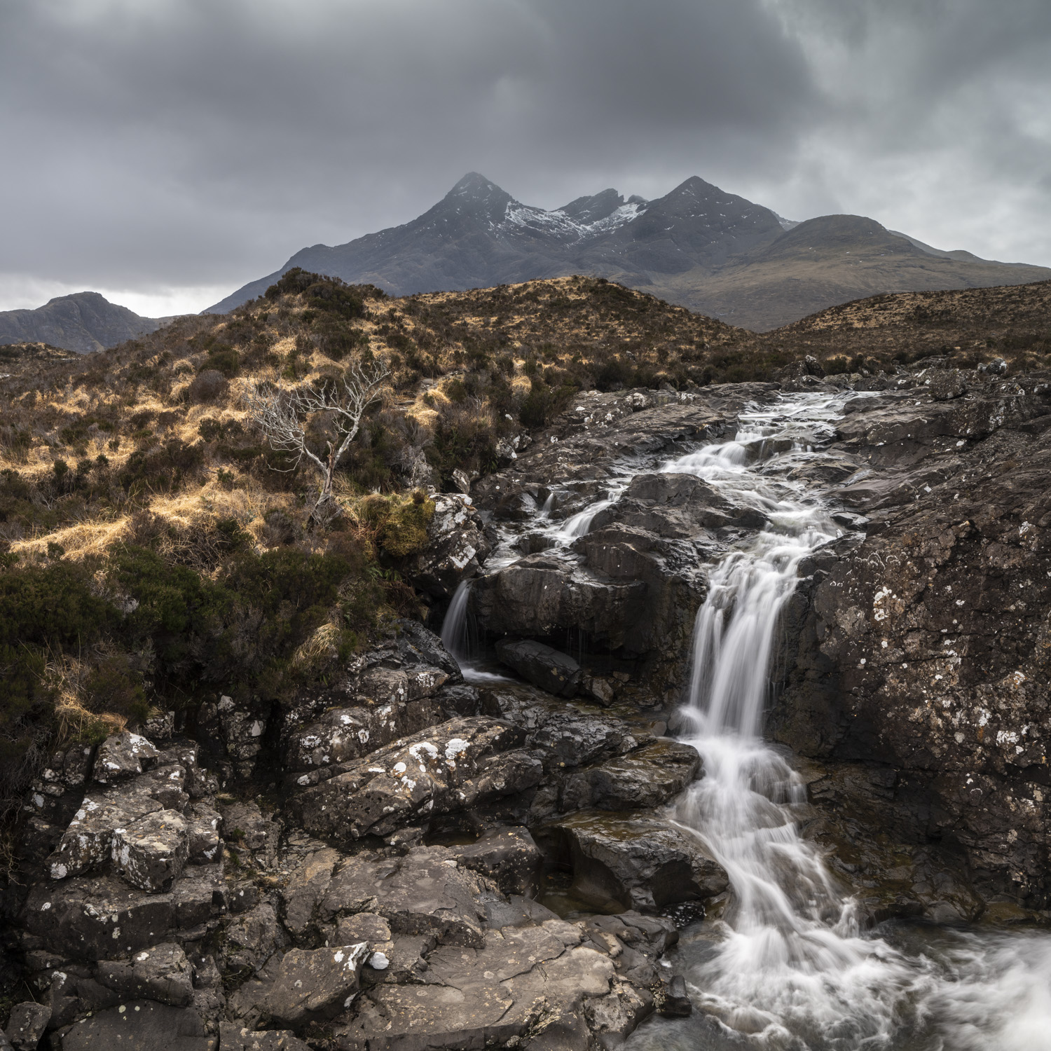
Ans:
<svg viewBox="0 0 1051 1051"><path fill-rule="evenodd" d="M714 898L729 885L692 837L653 813L582 811L538 834L572 865L574 893L599 907L653 912Z"/></svg>

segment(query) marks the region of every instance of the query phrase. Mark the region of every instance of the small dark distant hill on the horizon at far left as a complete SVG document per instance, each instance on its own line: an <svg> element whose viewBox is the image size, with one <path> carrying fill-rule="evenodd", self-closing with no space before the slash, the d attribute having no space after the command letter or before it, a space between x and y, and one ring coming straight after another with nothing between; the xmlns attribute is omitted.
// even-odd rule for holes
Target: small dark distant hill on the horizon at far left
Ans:
<svg viewBox="0 0 1051 1051"><path fill-rule="evenodd" d="M140 317L98 292L75 292L36 310L0 311L0 345L46 343L87 354L153 332L163 321Z"/></svg>

